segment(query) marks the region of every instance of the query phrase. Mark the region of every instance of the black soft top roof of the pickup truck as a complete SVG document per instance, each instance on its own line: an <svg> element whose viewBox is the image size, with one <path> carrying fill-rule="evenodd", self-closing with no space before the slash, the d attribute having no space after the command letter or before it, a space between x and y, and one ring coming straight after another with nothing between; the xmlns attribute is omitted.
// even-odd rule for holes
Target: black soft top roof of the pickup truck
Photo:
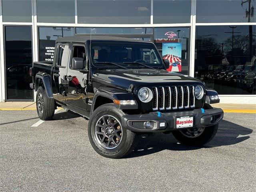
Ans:
<svg viewBox="0 0 256 192"><path fill-rule="evenodd" d="M60 37L56 39L57 42L86 42L87 40L114 40L114 41L130 41L130 42L144 42L141 40L134 40L130 38L118 37L118 36L107 36L107 35L92 35L90 34L76 34L74 36Z"/></svg>

